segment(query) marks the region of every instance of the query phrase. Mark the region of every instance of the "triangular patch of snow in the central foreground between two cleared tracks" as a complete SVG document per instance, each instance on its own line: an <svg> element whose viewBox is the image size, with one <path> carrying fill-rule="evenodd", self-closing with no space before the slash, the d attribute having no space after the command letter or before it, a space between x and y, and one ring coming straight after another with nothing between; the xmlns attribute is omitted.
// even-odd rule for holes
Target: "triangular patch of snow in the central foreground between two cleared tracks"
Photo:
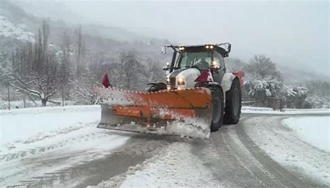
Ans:
<svg viewBox="0 0 330 188"><path fill-rule="evenodd" d="M189 141L172 143L158 155L95 187L223 187L192 148Z"/></svg>

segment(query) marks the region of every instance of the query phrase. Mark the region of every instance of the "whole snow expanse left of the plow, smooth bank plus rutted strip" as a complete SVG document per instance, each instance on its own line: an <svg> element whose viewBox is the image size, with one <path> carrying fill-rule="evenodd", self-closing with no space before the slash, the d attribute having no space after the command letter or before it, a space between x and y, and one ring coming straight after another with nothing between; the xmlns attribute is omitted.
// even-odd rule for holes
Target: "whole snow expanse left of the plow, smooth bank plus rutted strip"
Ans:
<svg viewBox="0 0 330 188"><path fill-rule="evenodd" d="M106 157L125 144L129 134L96 128L100 112L99 105L0 110L0 187Z"/></svg>

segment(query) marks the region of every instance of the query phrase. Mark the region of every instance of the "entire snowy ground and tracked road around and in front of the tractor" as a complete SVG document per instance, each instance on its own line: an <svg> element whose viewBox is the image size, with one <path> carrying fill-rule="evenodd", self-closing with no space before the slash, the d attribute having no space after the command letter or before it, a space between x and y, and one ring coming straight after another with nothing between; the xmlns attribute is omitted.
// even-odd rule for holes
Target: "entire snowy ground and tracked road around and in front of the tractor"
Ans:
<svg viewBox="0 0 330 188"><path fill-rule="evenodd" d="M0 111L0 187L330 186L329 151L286 125L301 115L246 112L203 140L96 129L93 106Z"/></svg>

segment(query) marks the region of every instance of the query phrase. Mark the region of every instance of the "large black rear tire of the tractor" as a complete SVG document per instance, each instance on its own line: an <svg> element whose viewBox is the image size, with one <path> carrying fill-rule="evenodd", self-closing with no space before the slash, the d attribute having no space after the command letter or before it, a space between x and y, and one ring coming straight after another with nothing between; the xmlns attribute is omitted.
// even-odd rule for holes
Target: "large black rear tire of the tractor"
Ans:
<svg viewBox="0 0 330 188"><path fill-rule="evenodd" d="M242 89L239 79L234 79L230 91L226 92L226 108L224 123L227 125L236 124L241 117Z"/></svg>

